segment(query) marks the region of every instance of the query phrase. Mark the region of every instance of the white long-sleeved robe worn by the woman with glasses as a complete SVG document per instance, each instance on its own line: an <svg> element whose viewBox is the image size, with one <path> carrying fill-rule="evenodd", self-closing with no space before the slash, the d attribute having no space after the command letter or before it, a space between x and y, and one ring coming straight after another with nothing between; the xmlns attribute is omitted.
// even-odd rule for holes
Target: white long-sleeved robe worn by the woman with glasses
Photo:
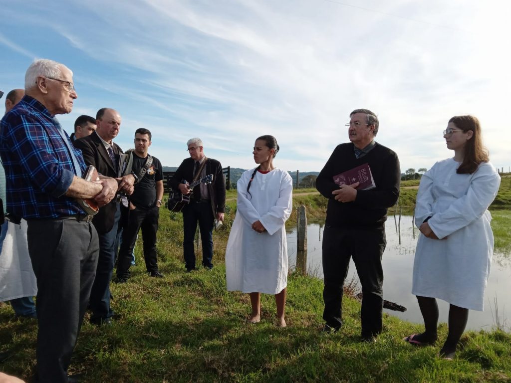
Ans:
<svg viewBox="0 0 511 383"><path fill-rule="evenodd" d="M457 174L454 159L439 161L421 179L415 224L425 219L440 238L420 235L413 262L412 294L483 310L493 255L492 216L487 208L500 177L489 162Z"/></svg>

